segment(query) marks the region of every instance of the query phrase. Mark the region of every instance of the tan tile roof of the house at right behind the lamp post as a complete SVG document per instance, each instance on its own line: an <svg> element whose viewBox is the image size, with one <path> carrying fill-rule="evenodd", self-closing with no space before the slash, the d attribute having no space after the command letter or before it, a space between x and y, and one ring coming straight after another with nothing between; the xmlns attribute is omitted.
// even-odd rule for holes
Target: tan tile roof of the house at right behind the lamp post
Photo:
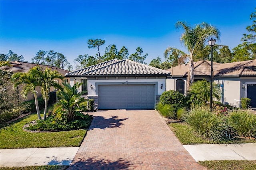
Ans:
<svg viewBox="0 0 256 170"><path fill-rule="evenodd" d="M195 76L210 76L210 61L194 62ZM171 72L174 77L184 77L188 75L188 64L178 65L167 71ZM240 61L234 63L216 63L213 62L213 74L216 77L221 76L256 76L256 59L248 61Z"/></svg>

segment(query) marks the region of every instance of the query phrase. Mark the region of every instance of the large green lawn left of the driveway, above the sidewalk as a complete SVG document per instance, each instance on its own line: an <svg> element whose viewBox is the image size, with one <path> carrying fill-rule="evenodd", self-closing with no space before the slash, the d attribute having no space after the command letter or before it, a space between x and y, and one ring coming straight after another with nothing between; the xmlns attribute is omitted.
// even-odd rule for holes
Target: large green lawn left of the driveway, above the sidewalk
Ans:
<svg viewBox="0 0 256 170"><path fill-rule="evenodd" d="M19 119L0 129L0 148L48 148L80 146L86 130L69 130L60 132L26 132L23 126L38 119L36 113Z"/></svg>

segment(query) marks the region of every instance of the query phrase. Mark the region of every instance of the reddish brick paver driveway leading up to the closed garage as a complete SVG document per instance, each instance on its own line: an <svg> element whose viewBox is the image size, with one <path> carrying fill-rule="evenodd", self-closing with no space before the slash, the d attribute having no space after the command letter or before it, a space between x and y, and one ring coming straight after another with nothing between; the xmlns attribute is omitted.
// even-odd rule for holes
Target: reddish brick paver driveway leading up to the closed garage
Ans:
<svg viewBox="0 0 256 170"><path fill-rule="evenodd" d="M108 110L94 119L68 170L202 170L154 110Z"/></svg>

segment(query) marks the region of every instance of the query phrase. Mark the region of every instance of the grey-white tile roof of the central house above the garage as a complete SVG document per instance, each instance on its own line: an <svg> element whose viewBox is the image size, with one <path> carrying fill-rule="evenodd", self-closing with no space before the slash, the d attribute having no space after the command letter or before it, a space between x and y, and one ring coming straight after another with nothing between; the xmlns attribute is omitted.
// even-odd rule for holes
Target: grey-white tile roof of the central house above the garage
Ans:
<svg viewBox="0 0 256 170"><path fill-rule="evenodd" d="M112 59L84 69L66 73L66 76L131 76L131 75L170 75L169 71L137 63L128 59Z"/></svg>

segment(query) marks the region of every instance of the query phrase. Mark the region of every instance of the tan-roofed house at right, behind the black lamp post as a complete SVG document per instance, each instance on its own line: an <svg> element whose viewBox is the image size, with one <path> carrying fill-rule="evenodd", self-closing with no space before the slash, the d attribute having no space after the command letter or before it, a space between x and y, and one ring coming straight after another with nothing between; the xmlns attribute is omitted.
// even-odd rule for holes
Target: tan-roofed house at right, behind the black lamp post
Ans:
<svg viewBox="0 0 256 170"><path fill-rule="evenodd" d="M194 81L210 81L210 61L194 62ZM188 64L178 65L167 71L166 90L176 90L186 95ZM213 80L222 91L222 103L240 107L241 98L250 98L252 108L256 108L256 59L234 63L213 63Z"/></svg>

